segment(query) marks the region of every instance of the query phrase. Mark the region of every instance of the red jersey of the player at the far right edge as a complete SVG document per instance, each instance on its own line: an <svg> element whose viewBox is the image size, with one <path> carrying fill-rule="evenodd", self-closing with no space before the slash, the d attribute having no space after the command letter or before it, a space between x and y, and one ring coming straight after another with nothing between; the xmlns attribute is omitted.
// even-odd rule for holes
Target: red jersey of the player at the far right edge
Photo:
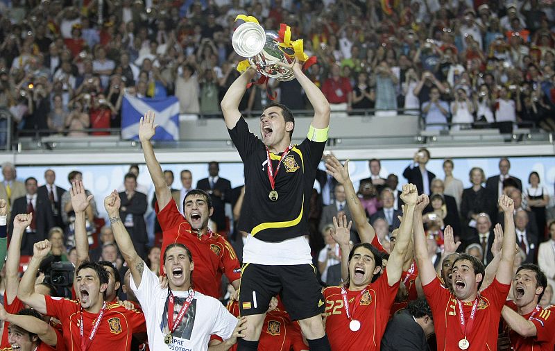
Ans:
<svg viewBox="0 0 555 351"><path fill-rule="evenodd" d="M505 302L505 305L514 311L518 310L513 300ZM513 346L514 350L519 351L555 350L555 306L549 306L547 309L540 307L539 311L535 314L534 312L536 312L536 309L529 314L522 315L522 317L529 319L533 314L530 321L536 325L536 336L524 338L504 323L504 328L510 329L509 339L511 340L511 346Z"/></svg>

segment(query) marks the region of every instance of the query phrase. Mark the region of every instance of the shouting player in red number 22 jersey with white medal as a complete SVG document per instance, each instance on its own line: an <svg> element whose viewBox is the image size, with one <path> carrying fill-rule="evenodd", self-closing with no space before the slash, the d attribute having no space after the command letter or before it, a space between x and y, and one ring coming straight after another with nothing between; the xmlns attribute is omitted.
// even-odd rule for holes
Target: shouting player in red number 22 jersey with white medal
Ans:
<svg viewBox="0 0 555 351"><path fill-rule="evenodd" d="M357 243L348 257L348 284L324 290L325 329L332 350L379 350L411 240L412 217L418 201L416 186L404 185L401 199L405 213L384 273L379 275L382 269L379 251L369 243ZM343 252L348 252L350 224L345 222L345 216L339 223L334 219L334 239Z"/></svg>

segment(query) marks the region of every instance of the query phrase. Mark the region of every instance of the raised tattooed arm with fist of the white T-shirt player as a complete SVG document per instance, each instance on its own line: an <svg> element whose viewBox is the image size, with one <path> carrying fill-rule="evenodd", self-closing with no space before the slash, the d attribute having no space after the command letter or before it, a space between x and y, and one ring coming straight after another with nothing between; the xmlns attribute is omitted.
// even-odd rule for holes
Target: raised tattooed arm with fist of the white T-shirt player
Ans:
<svg viewBox="0 0 555 351"><path fill-rule="evenodd" d="M142 275L144 271L144 261L133 246L133 241L129 237L123 222L119 218L119 207L121 205L121 200L117 194L117 190L112 191L112 194L106 196L104 199L104 208L108 212L108 217L110 218L110 223L112 224L112 231L114 232L114 238L117 242L117 247L123 255L123 259L126 260L127 266L131 271L131 277L133 277L133 282L135 286L141 284Z"/></svg>

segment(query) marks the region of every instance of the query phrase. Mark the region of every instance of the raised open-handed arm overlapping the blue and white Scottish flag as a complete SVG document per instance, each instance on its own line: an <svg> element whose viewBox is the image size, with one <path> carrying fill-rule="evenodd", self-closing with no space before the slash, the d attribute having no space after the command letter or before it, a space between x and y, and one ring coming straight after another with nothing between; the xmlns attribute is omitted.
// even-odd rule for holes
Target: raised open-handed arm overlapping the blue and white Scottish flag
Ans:
<svg viewBox="0 0 555 351"><path fill-rule="evenodd" d="M154 124L154 112L146 112L144 117L141 118L141 121L139 121L139 140L143 148L146 168L154 184L158 208L163 209L169 203L169 200L171 200L171 191L166 184L164 172L162 172L162 167L158 160L156 160L156 155L154 155L154 149L151 143L151 139L156 133L156 127L157 125Z"/></svg>

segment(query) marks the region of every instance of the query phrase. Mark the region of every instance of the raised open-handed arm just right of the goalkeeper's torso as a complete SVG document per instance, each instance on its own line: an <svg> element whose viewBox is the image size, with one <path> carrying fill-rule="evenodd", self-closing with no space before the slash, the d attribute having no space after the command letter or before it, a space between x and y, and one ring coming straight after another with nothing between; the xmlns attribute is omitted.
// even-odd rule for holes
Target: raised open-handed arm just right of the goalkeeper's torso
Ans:
<svg viewBox="0 0 555 351"><path fill-rule="evenodd" d="M368 219L366 219L366 212L360 203L355 187L349 177L349 160L345 161L345 166L336 159L335 156L330 156L325 162L326 172L333 176L335 180L343 187L345 187L345 195L347 196L347 205L352 214L352 220L355 221L357 232L359 233L360 241L363 243L372 243L376 232Z"/></svg>

